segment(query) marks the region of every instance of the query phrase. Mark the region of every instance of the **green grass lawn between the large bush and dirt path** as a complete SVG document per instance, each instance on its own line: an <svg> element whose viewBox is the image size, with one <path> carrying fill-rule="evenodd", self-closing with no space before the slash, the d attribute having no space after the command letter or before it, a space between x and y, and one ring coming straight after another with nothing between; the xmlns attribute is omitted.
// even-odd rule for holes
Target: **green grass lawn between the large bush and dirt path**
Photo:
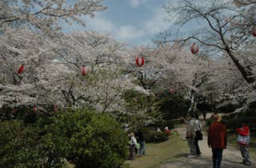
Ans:
<svg viewBox="0 0 256 168"><path fill-rule="evenodd" d="M186 141L170 136L166 142L146 143L146 156L137 156L135 160L126 161L132 168L150 168L174 160L188 152Z"/></svg>

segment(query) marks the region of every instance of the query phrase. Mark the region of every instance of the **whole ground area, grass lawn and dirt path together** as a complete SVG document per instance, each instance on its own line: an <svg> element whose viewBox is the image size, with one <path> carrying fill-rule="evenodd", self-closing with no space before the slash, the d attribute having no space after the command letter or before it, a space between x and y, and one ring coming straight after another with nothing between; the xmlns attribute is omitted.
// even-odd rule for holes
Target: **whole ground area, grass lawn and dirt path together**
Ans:
<svg viewBox="0 0 256 168"><path fill-rule="evenodd" d="M146 156L137 157L134 161L128 161L133 168L211 168L212 152L207 145L206 133L203 140L199 141L202 155L198 158L186 158L189 148L186 145L186 125L175 127L179 137L172 137L166 142L146 144ZM254 155L253 155L254 156ZM242 157L238 147L227 146L223 152L222 168L256 167L255 157L252 158L252 166L243 166Z"/></svg>

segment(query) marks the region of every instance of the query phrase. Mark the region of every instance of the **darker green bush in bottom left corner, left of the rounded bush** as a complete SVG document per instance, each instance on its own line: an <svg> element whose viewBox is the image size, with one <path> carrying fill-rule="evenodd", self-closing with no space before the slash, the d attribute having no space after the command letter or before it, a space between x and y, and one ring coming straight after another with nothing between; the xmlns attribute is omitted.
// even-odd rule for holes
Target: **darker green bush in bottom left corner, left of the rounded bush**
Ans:
<svg viewBox="0 0 256 168"><path fill-rule="evenodd" d="M47 152L42 148L43 132L38 125L21 120L0 122L0 167L42 166Z"/></svg>

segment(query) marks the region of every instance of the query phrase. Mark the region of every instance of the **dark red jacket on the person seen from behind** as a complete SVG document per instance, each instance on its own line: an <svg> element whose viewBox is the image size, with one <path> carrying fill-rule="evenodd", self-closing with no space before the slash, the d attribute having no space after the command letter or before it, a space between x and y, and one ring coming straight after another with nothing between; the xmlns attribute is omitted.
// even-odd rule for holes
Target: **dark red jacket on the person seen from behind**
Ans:
<svg viewBox="0 0 256 168"><path fill-rule="evenodd" d="M214 122L210 125L208 146L212 149L226 149L226 126L222 122Z"/></svg>

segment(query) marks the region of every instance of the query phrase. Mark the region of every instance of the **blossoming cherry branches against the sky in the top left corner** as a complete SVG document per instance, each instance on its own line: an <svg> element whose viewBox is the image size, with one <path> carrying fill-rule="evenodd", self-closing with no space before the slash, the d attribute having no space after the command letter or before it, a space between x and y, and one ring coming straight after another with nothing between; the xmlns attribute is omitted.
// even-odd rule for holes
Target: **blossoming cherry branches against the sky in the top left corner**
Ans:
<svg viewBox="0 0 256 168"><path fill-rule="evenodd" d="M96 12L106 10L101 3L102 0L3 0L0 2L0 31L4 33L10 26L27 26L54 37L62 29L60 22L85 26L82 16L93 18Z"/></svg>

